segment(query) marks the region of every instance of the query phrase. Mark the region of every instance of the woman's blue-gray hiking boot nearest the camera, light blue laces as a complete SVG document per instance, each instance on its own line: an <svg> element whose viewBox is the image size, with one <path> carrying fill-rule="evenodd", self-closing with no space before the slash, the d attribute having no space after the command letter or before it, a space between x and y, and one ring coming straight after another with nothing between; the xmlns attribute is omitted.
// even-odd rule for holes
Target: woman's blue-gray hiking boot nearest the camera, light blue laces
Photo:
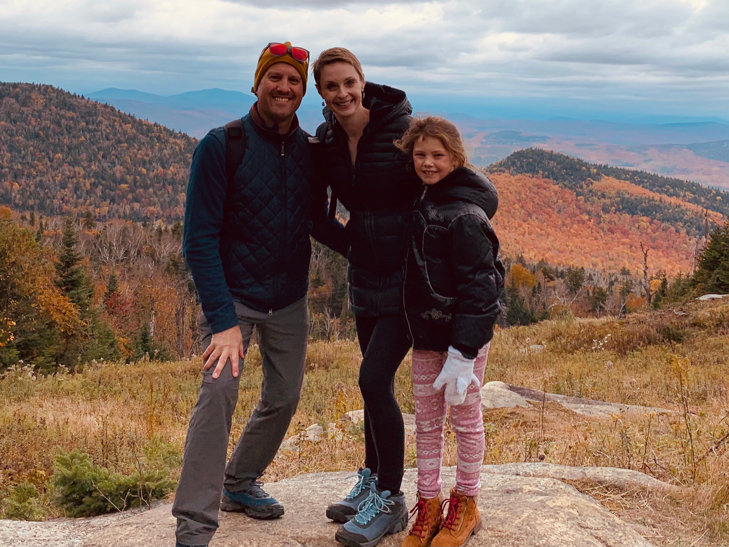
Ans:
<svg viewBox="0 0 729 547"><path fill-rule="evenodd" d="M397 534L408 527L405 494L378 492L370 485L370 495L359 504L354 519L337 530L335 539L347 547L374 547L387 534Z"/></svg>

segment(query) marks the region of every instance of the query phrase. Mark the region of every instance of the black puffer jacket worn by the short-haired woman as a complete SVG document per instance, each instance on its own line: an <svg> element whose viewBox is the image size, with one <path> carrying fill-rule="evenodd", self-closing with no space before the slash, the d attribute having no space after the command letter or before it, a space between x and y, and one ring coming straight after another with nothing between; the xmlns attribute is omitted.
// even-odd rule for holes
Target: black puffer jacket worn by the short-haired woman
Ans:
<svg viewBox="0 0 729 547"><path fill-rule="evenodd" d="M367 82L364 106L370 123L357 144L352 166L347 135L329 109L316 135L332 195L349 211L346 225L349 298L355 314L378 317L402 311L405 229L421 182L392 142L402 137L413 111L401 90Z"/></svg>

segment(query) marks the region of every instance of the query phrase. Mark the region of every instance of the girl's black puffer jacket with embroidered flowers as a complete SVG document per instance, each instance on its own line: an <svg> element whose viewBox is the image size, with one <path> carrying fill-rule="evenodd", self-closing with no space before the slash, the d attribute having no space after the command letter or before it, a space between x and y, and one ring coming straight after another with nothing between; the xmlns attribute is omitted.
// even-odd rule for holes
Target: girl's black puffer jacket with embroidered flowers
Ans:
<svg viewBox="0 0 729 547"><path fill-rule="evenodd" d="M403 301L413 348L467 357L494 336L504 265L491 222L499 198L481 173L461 167L429 186L408 228Z"/></svg>

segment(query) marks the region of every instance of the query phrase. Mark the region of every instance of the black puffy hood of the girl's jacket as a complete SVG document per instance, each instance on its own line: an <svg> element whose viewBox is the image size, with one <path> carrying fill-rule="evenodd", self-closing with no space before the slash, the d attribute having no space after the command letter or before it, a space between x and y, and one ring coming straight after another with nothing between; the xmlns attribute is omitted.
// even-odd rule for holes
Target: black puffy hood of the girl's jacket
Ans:
<svg viewBox="0 0 729 547"><path fill-rule="evenodd" d="M480 171L472 171L467 167L459 167L448 176L441 179L432 190L428 198L434 202L446 203L449 201L467 201L483 209L488 220L491 220L499 208L499 194L496 186L488 176Z"/></svg>

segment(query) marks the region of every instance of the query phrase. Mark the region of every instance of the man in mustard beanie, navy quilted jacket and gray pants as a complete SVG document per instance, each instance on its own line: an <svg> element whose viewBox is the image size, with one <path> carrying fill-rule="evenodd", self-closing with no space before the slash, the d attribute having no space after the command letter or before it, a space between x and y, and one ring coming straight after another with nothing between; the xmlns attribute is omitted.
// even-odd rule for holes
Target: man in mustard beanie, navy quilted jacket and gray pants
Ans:
<svg viewBox="0 0 729 547"><path fill-rule="evenodd" d="M328 218L325 187L315 184L313 145L295 115L308 61L308 51L289 42L268 44L249 114L208 133L192 156L183 248L202 306L205 364L172 508L181 546L206 545L219 508L256 519L284 513L257 479L276 456L299 401L309 234L343 254L347 249L343 226ZM239 363L254 325L261 399L226 465Z"/></svg>

